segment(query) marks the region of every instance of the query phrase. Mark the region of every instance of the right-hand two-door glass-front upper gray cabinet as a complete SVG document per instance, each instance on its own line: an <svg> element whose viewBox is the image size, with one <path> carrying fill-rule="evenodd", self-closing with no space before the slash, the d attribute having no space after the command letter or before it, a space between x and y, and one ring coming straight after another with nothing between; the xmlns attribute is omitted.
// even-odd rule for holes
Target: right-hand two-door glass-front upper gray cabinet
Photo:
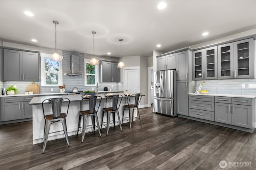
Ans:
<svg viewBox="0 0 256 170"><path fill-rule="evenodd" d="M253 39L218 46L218 79L253 78Z"/></svg>

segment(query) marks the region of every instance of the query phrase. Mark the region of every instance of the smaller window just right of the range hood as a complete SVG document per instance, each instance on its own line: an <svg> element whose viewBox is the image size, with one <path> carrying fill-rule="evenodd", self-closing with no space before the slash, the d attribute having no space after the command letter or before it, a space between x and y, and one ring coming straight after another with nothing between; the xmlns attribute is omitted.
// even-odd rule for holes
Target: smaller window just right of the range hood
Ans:
<svg viewBox="0 0 256 170"><path fill-rule="evenodd" d="M98 82L98 66L92 66L89 59L84 59L84 72L84 86L96 86Z"/></svg>

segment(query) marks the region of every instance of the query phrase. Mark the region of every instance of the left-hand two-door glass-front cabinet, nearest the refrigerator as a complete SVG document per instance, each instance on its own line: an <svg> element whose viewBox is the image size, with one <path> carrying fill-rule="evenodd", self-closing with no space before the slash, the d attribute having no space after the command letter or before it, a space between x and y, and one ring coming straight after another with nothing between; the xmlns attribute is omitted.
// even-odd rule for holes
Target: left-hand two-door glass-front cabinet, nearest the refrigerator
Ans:
<svg viewBox="0 0 256 170"><path fill-rule="evenodd" d="M217 46L193 51L193 80L217 79Z"/></svg>

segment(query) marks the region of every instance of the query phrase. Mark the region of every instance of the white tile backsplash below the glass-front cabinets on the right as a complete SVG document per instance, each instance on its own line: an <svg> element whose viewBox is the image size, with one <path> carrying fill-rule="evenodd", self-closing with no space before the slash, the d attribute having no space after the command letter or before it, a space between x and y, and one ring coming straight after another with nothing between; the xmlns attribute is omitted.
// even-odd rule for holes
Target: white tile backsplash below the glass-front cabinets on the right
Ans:
<svg viewBox="0 0 256 170"><path fill-rule="evenodd" d="M196 86L199 87L201 83L202 90L208 90L210 93L256 95L256 88L248 88L248 84L256 84L255 78L200 80L196 81ZM245 88L242 88L242 84L245 84Z"/></svg>

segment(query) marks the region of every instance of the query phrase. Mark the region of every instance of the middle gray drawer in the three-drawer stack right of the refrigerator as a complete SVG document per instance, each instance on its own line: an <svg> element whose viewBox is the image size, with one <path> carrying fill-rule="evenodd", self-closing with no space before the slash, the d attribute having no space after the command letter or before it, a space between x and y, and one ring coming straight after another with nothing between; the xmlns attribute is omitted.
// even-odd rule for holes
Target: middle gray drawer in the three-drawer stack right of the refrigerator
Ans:
<svg viewBox="0 0 256 170"><path fill-rule="evenodd" d="M188 106L191 109L214 111L214 102L201 102L201 101L189 100Z"/></svg>

